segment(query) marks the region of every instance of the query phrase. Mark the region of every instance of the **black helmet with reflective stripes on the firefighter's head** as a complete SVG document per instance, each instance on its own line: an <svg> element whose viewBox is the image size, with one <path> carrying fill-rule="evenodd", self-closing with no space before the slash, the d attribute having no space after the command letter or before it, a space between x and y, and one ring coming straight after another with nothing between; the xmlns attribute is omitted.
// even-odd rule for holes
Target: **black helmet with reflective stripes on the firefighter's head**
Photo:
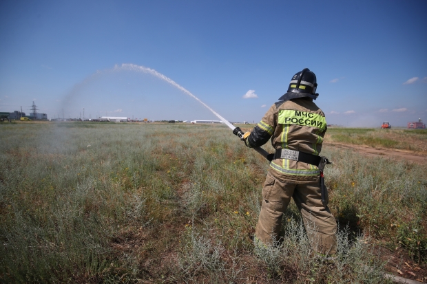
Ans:
<svg viewBox="0 0 427 284"><path fill-rule="evenodd" d="M302 71L293 75L291 83L286 94L281 96L279 100L291 100L293 98L309 97L314 100L319 96L315 94L317 89L316 75L309 68L304 68Z"/></svg>

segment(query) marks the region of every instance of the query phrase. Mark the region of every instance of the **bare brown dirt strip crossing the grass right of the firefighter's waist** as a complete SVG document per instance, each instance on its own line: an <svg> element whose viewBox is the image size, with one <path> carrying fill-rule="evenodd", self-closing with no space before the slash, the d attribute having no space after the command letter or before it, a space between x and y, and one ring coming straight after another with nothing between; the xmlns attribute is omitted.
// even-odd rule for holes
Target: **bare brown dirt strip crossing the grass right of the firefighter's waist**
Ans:
<svg viewBox="0 0 427 284"><path fill-rule="evenodd" d="M327 147L333 147L344 150L357 151L362 155L369 157L385 157L396 160L404 160L408 162L415 162L417 164L427 164L427 155L424 153L417 153L415 151L399 150L399 149L386 149L386 148L373 148L370 146L362 146L355 144L344 144L340 142L324 142Z"/></svg>

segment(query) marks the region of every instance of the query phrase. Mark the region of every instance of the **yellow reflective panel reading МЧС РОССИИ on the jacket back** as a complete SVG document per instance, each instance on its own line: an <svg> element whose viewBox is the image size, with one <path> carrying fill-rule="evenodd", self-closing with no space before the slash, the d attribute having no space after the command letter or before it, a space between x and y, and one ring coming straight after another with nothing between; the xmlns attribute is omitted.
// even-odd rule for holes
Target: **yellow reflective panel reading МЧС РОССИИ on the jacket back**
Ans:
<svg viewBox="0 0 427 284"><path fill-rule="evenodd" d="M317 113L281 109L279 110L278 120L279 124L298 124L304 127L326 129L326 118Z"/></svg>

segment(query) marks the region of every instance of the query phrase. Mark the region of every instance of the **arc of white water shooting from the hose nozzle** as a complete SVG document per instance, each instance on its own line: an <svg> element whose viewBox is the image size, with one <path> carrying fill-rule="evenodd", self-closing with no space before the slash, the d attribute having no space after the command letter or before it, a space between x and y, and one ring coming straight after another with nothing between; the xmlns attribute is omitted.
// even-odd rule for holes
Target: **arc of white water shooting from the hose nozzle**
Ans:
<svg viewBox="0 0 427 284"><path fill-rule="evenodd" d="M167 78L167 76L158 73L154 69L147 68L147 67L144 67L144 66L135 65L135 64L125 64L125 63L123 63L121 66L118 66L118 65L114 66L114 69L115 70L125 69L125 70L132 70L132 71L138 71L138 72L144 72L144 73L152 74L152 75L156 76L157 78L160 78L161 80L164 80L167 83L173 85L174 87L180 89L185 94L191 96L191 98L194 98L195 100L197 100L198 102L200 102L204 107L206 107L207 109L209 109L209 111L211 111L214 115L216 115L216 117L218 117L222 122L224 122L227 125L227 127L229 127L231 130L234 130L236 128L228 120L226 120L225 118L223 118L222 116L220 116L216 111L214 111L208 105L206 105L205 102L202 102L199 98L197 98L196 96L194 96L194 94L191 94L187 89L185 89L184 87L182 87L181 85L179 85L178 83L176 83L174 80L172 80L171 78ZM267 153L267 151L265 151L264 149L262 149L260 147L256 147L256 148L253 148L253 149L255 151L257 151L258 153L260 153L262 156L264 156L267 159L267 155L269 155L269 153Z"/></svg>

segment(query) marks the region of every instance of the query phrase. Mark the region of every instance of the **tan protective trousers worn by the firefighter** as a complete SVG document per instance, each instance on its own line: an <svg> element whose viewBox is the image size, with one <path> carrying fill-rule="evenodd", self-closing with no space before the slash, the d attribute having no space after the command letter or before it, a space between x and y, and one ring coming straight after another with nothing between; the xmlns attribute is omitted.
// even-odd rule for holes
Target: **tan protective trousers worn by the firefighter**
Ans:
<svg viewBox="0 0 427 284"><path fill-rule="evenodd" d="M334 254L337 223L329 208L322 204L320 183L283 179L273 169L269 171L262 188L262 208L256 237L266 244L278 241L283 213L291 197L300 209L313 249L322 254Z"/></svg>

